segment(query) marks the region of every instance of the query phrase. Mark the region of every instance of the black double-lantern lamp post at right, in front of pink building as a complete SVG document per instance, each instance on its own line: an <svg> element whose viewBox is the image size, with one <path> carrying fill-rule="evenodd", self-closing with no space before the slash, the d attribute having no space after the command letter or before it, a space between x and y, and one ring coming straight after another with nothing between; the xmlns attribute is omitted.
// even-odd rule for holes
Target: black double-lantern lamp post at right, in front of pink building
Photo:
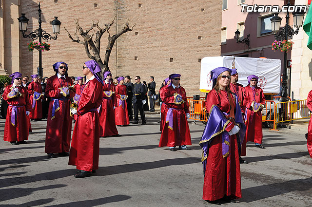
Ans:
<svg viewBox="0 0 312 207"><path fill-rule="evenodd" d="M292 12L293 16L293 27L296 27L296 30L294 31L291 26L289 26L289 11L288 8L291 5L290 0L288 0L287 3L287 13L286 13L286 24L283 29L280 31L280 25L282 18L278 16L278 13L274 14L274 17L271 18L271 27L272 31L274 33L274 38L276 40L286 40L288 41L288 38L292 38L293 35L298 34L299 28L303 24L303 18L304 18L304 11L297 10L295 12ZM282 82L282 102L285 102L287 99L287 52L284 51L284 68L283 68L283 82Z"/></svg>

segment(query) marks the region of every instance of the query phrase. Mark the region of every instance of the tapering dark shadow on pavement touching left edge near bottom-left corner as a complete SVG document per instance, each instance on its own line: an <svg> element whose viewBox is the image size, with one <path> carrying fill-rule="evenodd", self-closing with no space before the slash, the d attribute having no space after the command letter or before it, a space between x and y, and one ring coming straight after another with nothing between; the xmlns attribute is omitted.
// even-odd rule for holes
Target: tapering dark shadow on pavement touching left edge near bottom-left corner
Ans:
<svg viewBox="0 0 312 207"><path fill-rule="evenodd" d="M43 186L39 188L6 188L0 189L0 201L6 201L10 199L20 198L26 195L30 195L37 190L46 190L46 189L55 189L55 188L63 188L67 185L51 185L51 186Z"/></svg>

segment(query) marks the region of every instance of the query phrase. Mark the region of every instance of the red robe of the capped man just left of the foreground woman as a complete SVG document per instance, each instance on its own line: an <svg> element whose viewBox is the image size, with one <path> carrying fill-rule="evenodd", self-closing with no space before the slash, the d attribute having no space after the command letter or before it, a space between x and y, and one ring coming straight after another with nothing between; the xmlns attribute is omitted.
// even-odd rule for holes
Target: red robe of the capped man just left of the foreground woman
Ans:
<svg viewBox="0 0 312 207"><path fill-rule="evenodd" d="M175 104L174 94L178 93L185 101L182 104ZM176 147L181 145L192 145L189 123L187 122L186 113L190 113L189 103L186 98L184 88L173 88L168 86L163 89L163 103L165 103L163 117L166 119L168 111L173 109L173 128L170 129L168 120L164 123L160 136L159 147Z"/></svg>

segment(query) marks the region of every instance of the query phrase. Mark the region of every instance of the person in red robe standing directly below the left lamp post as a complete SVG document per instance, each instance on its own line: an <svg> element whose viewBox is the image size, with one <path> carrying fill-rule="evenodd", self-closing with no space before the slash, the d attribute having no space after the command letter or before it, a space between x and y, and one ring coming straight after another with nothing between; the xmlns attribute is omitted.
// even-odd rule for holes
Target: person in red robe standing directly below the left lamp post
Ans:
<svg viewBox="0 0 312 207"><path fill-rule="evenodd" d="M33 78L33 81L28 85L28 94L30 94L33 110L30 112L29 118L32 121L38 121L42 118L42 88L38 80L38 75L31 75L31 77Z"/></svg>

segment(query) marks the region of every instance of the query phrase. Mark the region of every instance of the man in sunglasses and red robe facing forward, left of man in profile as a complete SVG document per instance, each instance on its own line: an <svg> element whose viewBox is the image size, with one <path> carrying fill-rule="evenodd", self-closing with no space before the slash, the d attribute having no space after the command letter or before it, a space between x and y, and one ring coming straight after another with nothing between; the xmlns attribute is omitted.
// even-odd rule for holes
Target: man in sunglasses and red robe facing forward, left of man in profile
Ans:
<svg viewBox="0 0 312 207"><path fill-rule="evenodd" d="M70 98L75 96L73 80L68 77L68 66L64 62L53 65L55 75L48 79L45 88L46 96L51 98L45 135L45 152L49 158L54 153L69 156L72 117L70 116Z"/></svg>

